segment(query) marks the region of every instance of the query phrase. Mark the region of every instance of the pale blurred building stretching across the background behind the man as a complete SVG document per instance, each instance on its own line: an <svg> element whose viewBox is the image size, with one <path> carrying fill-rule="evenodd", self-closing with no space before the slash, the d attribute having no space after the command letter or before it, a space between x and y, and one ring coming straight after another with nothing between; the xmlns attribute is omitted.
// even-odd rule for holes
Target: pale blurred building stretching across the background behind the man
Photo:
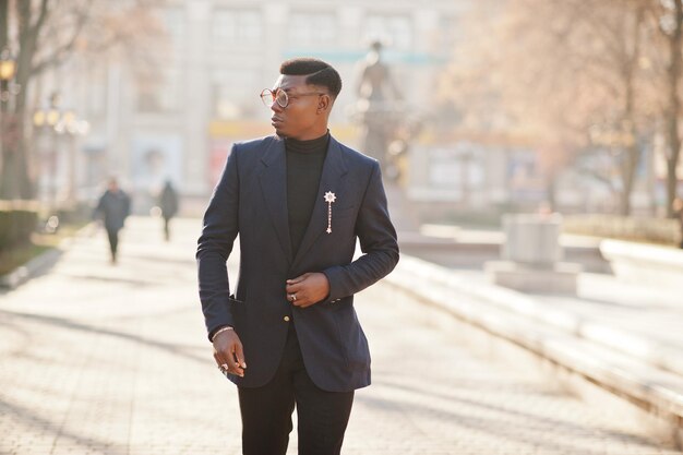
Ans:
<svg viewBox="0 0 683 455"><path fill-rule="evenodd" d="M615 207L613 159L588 156L579 163L607 180L564 169L549 182L539 160L542 151L506 135L498 124L499 112L489 112L490 129L469 130L467 112L457 111L438 92L446 67L457 64L472 0L166 4L152 24L164 31L163 37L152 46L141 40L133 44L133 53L108 53L95 62L74 58L36 84L31 97L36 108L48 109L50 94L59 91L61 109L89 123L87 135L57 137L48 129L36 130L34 173L44 197L73 197L76 189L80 199L92 200L107 177L116 175L133 193L139 213L154 205L166 180L179 189L184 213L201 213L231 144L273 132L259 94L273 85L279 63L297 56L319 57L339 70L345 87L332 130L359 146L360 131L351 119L359 64L370 41L381 39L407 113L423 123L402 163L406 194L423 202L421 207L460 217L534 209L548 200L550 183L561 209ZM636 208L663 200L664 171L650 152L644 151L647 156L638 169Z"/></svg>

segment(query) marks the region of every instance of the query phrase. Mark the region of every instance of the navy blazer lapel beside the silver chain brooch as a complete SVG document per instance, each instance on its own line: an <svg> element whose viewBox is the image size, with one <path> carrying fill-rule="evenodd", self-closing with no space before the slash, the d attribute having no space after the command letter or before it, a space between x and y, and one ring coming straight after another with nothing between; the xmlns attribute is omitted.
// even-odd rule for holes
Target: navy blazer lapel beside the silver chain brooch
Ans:
<svg viewBox="0 0 683 455"><path fill-rule="evenodd" d="M323 171L320 177L320 185L317 188L317 195L315 196L315 203L313 204L313 213L309 226L305 229L301 246L293 260L292 266L301 261L308 250L313 246L315 240L327 229L327 203L324 200L325 193L332 191L335 194L343 192L344 180L343 177L348 172L348 168L344 160L342 147L339 143L329 137L329 144L327 145L327 156L323 164ZM286 197L285 197L286 199ZM334 203L333 203L333 235L334 235Z"/></svg>

